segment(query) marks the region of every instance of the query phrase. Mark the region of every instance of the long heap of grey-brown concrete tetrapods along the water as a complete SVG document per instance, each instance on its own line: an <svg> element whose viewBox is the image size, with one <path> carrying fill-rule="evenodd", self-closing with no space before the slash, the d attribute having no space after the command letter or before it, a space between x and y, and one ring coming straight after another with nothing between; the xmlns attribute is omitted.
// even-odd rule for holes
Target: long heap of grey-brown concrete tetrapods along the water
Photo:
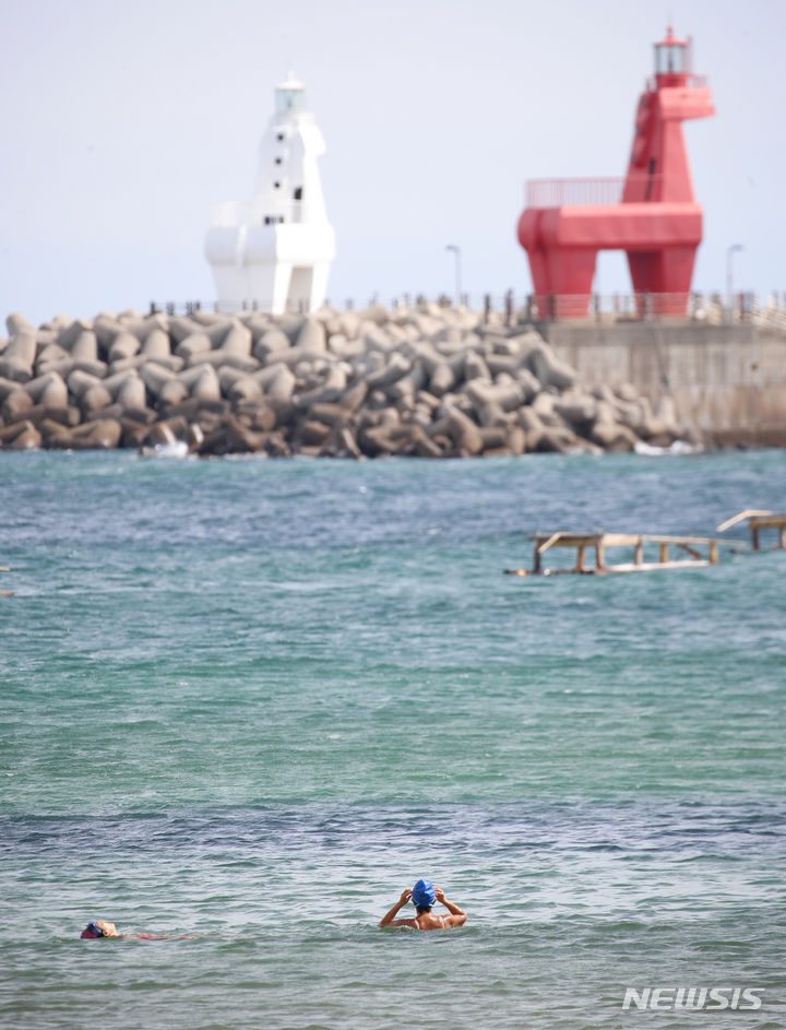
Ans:
<svg viewBox="0 0 786 1030"><path fill-rule="evenodd" d="M19 313L0 340L0 447L186 447L453 458L684 438L668 400L580 382L532 327L464 308L312 316Z"/></svg>

